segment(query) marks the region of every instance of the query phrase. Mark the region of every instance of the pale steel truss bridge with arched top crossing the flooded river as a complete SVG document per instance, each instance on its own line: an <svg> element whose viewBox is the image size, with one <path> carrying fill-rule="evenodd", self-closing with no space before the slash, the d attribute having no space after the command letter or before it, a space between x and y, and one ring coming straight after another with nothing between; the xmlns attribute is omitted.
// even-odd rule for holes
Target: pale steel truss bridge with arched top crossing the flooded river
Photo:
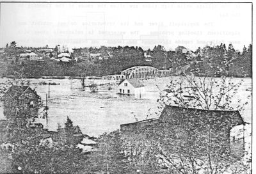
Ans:
<svg viewBox="0 0 256 174"><path fill-rule="evenodd" d="M154 67L137 66L123 70L121 74L104 75L104 79L121 81L122 79L146 79L150 77L166 77L171 75L171 70L158 70Z"/></svg>

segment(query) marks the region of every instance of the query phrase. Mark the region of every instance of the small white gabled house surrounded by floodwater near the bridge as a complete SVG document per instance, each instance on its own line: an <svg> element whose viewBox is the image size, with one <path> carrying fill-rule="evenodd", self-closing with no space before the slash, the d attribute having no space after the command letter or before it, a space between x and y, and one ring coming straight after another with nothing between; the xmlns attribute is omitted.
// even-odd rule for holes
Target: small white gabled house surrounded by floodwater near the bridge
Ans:
<svg viewBox="0 0 256 174"><path fill-rule="evenodd" d="M136 79L125 79L118 84L118 93L134 94L138 98L145 93L145 86Z"/></svg>

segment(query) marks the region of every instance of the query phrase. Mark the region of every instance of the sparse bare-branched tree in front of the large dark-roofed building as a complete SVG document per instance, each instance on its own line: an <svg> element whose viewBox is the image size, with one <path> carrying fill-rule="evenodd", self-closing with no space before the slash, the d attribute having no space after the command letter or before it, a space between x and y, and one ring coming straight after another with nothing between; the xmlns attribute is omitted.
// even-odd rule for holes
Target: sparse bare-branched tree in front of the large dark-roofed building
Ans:
<svg viewBox="0 0 256 174"><path fill-rule="evenodd" d="M235 98L242 84L243 80L235 83L234 79L228 77L217 79L215 77L186 75L182 79L173 79L166 86L166 89L161 92L159 109L171 105L185 109L203 109L204 111L243 111L248 102L242 104L241 99ZM246 99L249 100L250 97L251 94ZM173 148L166 148L166 152L159 150L159 158L163 159L168 166L175 169L177 173L194 174L201 170L211 174L223 173L227 170L234 173L247 172L248 166L228 155L228 152L222 153L221 151L225 146L228 149L228 144L223 139L225 134L214 132L214 127L223 129L228 125L228 122L214 118L214 113L211 116L209 115L208 118L202 117L202 119L207 119L209 122L199 119L195 124L193 123L195 118L188 115L188 113L180 113L179 115L180 120L182 120L180 123L182 129L173 127L173 124L165 125L170 127L169 133L179 140L164 136L165 141L176 143L172 145ZM161 132L161 130L159 131ZM179 147L179 150L177 150L177 147ZM239 166L239 171L237 171L237 166Z"/></svg>

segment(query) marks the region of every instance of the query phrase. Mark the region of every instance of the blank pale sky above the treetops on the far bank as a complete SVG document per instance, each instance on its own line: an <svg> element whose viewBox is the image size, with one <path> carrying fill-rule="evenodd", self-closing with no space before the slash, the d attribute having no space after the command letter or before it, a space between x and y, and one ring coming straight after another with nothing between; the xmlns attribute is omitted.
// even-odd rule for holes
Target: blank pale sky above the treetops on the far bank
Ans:
<svg viewBox="0 0 256 174"><path fill-rule="evenodd" d="M252 43L250 3L1 3L0 47L68 48Z"/></svg>

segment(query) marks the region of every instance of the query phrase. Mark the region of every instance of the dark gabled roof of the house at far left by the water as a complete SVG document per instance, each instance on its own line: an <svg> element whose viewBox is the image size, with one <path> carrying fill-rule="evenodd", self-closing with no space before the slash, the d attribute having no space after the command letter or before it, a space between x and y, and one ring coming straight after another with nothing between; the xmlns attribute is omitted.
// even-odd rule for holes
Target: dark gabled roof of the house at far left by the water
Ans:
<svg viewBox="0 0 256 174"><path fill-rule="evenodd" d="M20 96L22 95L25 91L32 91L33 93L35 93L36 96L37 93L35 90L32 90L29 86L18 86L18 85L13 85L11 86L6 93L4 93L4 97L7 97L8 95L16 95L16 96ZM39 97L39 96L38 96Z"/></svg>

